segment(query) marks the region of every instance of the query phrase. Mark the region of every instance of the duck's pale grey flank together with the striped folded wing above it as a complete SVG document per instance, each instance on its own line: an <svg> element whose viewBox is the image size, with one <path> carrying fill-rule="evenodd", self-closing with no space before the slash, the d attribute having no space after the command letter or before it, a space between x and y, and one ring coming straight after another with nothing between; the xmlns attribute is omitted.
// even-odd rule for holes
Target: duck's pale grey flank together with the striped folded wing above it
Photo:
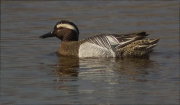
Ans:
<svg viewBox="0 0 180 105"><path fill-rule="evenodd" d="M131 34L101 34L80 41L79 56L115 57L117 48L124 47L133 41L143 39L145 32Z"/></svg>

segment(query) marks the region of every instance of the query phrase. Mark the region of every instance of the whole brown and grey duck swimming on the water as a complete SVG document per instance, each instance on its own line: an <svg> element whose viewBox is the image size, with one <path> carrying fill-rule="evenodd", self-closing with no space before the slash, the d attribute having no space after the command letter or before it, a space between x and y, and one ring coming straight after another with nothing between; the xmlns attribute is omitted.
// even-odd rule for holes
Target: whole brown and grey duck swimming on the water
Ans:
<svg viewBox="0 0 180 105"><path fill-rule="evenodd" d="M86 57L145 57L149 56L159 38L146 38L146 32L128 34L99 34L79 39L78 27L70 21L57 22L54 29L39 38L57 37L61 40L57 53L61 56Z"/></svg>

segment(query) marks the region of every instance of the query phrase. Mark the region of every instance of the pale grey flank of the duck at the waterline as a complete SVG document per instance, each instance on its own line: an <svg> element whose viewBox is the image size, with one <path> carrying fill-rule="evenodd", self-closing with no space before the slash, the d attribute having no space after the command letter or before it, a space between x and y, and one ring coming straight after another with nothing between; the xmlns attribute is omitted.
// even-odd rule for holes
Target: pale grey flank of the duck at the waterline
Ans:
<svg viewBox="0 0 180 105"><path fill-rule="evenodd" d="M92 43L84 43L79 47L79 57L116 57L116 54L112 49Z"/></svg>

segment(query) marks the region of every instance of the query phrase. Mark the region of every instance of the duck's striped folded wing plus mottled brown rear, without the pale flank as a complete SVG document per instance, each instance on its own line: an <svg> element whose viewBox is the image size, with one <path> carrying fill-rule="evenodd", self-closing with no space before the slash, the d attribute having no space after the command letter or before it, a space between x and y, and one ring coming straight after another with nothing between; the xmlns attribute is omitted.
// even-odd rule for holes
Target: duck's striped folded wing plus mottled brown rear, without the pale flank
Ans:
<svg viewBox="0 0 180 105"><path fill-rule="evenodd" d="M83 40L100 46L101 48L114 51L116 56L143 56L148 55L156 46L159 39L145 39L146 32L130 34L101 34Z"/></svg>

